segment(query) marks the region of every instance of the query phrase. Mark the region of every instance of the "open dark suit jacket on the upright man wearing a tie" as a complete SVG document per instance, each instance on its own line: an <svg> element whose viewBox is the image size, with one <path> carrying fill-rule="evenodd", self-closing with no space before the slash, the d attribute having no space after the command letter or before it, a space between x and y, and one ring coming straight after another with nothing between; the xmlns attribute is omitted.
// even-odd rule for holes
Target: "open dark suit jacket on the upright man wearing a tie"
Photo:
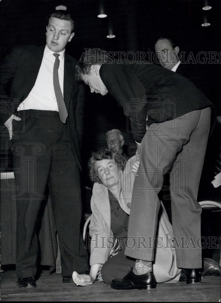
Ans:
<svg viewBox="0 0 221 303"><path fill-rule="evenodd" d="M5 57L1 68L1 124L17 106L27 98L35 85L42 63L45 46L17 46ZM72 139L72 149L80 167L80 142L83 133L84 88L75 79L76 60L65 53L64 59L64 101L68 111L67 126ZM12 81L9 98L5 87ZM5 136L7 130L5 132ZM7 137L8 138L8 137ZM3 140L4 141L4 140Z"/></svg>

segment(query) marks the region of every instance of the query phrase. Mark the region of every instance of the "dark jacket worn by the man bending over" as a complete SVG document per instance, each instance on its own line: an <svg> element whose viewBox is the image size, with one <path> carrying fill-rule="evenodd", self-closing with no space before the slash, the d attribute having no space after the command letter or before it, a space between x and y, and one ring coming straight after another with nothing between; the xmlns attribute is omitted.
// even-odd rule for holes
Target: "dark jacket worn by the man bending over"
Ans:
<svg viewBox="0 0 221 303"><path fill-rule="evenodd" d="M172 120L214 105L187 78L154 64L107 63L100 68L107 90L130 118L140 142L147 124Z"/></svg>

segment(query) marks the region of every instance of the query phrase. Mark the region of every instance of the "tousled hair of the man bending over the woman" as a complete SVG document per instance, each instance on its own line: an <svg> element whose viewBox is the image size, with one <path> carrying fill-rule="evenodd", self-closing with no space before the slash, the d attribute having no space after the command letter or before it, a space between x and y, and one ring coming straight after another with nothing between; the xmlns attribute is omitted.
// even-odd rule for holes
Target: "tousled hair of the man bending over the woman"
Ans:
<svg viewBox="0 0 221 303"><path fill-rule="evenodd" d="M91 70L91 65L99 64L102 65L107 63L108 56L107 52L101 48L88 48L86 49L79 62L76 65L77 78L82 80L82 75L88 75Z"/></svg>

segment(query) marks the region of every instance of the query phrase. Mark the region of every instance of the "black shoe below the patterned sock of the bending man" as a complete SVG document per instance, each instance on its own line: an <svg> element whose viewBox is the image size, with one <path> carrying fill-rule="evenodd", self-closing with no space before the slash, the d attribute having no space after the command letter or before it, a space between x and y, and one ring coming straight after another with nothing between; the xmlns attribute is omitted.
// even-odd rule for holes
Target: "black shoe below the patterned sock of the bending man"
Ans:
<svg viewBox="0 0 221 303"><path fill-rule="evenodd" d="M156 281L153 272L149 272L143 275L135 275L133 268L122 279L114 279L111 282L111 288L124 290L124 289L155 289Z"/></svg>

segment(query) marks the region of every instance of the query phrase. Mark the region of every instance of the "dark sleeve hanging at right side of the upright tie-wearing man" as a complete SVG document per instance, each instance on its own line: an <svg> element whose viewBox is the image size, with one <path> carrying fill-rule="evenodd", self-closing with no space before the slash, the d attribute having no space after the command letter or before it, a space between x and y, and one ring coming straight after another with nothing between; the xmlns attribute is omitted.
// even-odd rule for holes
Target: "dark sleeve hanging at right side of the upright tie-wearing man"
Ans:
<svg viewBox="0 0 221 303"><path fill-rule="evenodd" d="M83 138L83 117L84 117L84 85L80 84L79 85L79 92L77 95L77 105L75 108L75 118L76 118L76 127L79 135L79 141L80 141L80 146L82 144L82 138Z"/></svg>

